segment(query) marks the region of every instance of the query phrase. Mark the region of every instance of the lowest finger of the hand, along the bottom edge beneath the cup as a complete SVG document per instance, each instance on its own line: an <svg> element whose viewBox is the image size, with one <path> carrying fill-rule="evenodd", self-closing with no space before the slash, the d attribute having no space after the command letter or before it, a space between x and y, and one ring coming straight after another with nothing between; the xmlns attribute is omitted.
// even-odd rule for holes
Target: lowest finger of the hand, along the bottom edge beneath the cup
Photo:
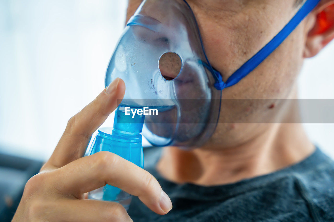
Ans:
<svg viewBox="0 0 334 222"><path fill-rule="evenodd" d="M59 199L34 204L32 221L132 221L124 207L115 202Z"/></svg>

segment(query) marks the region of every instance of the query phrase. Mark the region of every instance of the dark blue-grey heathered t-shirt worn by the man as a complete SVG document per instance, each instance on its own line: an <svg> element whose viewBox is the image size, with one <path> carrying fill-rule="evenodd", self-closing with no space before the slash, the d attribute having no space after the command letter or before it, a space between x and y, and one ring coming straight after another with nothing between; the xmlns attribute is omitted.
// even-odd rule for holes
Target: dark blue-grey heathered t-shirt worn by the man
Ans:
<svg viewBox="0 0 334 222"><path fill-rule="evenodd" d="M318 148L300 163L221 186L175 184L155 170L160 148L144 151L145 169L173 203L158 215L133 197L133 221L334 221L334 162Z"/></svg>

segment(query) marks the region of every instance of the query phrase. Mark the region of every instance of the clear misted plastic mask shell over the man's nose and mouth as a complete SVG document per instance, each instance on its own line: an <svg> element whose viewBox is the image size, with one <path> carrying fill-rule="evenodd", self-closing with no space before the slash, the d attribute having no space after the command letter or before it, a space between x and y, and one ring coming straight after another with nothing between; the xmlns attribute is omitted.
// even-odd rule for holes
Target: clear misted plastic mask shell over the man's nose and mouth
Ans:
<svg viewBox="0 0 334 222"><path fill-rule="evenodd" d="M158 66L167 52L182 60L172 81L162 77ZM111 58L106 86L120 77L126 85L120 106L159 110L157 116L145 117L143 128L153 145L199 146L216 127L221 98L213 71L203 64L209 63L187 3L146 0L128 22Z"/></svg>

